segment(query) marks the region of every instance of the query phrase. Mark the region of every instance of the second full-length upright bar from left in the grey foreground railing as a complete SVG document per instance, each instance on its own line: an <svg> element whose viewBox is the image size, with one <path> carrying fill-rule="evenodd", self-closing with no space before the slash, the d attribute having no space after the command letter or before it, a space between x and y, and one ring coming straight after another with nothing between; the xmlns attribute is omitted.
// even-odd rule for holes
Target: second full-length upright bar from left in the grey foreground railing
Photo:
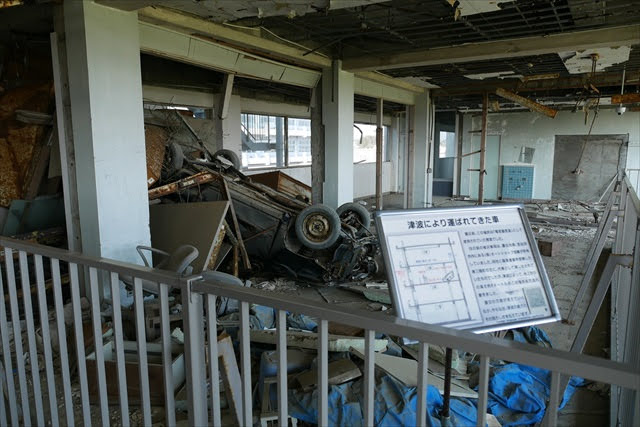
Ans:
<svg viewBox="0 0 640 427"><path fill-rule="evenodd" d="M33 401L36 406L36 421L38 425L43 425L44 410L40 383L40 368L38 367L38 348L36 347L36 327L33 322L33 306L31 305L29 262L25 251L19 251L18 256L20 259L20 281L22 282L22 304L24 307L24 319L27 326L27 341L29 342L29 362L31 364Z"/></svg>

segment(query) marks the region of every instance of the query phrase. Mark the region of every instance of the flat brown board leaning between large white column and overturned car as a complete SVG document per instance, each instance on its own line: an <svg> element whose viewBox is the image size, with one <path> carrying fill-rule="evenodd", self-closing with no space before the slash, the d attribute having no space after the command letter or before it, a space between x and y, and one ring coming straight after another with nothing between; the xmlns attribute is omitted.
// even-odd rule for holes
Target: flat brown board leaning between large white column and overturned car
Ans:
<svg viewBox="0 0 640 427"><path fill-rule="evenodd" d="M182 245L195 246L199 255L192 263L193 273L204 271L228 209L227 201L150 206L151 243L168 253Z"/></svg>

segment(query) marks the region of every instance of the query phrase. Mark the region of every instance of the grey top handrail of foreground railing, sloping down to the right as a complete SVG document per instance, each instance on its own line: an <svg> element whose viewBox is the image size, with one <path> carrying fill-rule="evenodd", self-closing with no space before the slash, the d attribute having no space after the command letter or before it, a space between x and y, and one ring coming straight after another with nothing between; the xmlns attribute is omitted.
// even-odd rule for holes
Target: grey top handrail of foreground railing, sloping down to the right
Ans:
<svg viewBox="0 0 640 427"><path fill-rule="evenodd" d="M640 390L640 371L635 370L631 365L602 358L543 348L491 336L476 335L466 331L399 319L365 310L347 310L340 307L327 306L304 298L290 300L283 298L281 295L263 290L230 287L220 283L204 281L201 280L202 277L199 275L180 277L170 272L106 258L91 257L77 252L68 252L8 237L0 237L0 245L78 265L164 283L173 287L185 288L190 286L192 292L201 292L207 295L238 299L279 310L304 313L311 317L349 326L362 327L363 324L366 324L370 329L390 335L428 342L443 347L464 349L471 353L482 354L492 358L510 360L544 369L553 369L568 375Z"/></svg>

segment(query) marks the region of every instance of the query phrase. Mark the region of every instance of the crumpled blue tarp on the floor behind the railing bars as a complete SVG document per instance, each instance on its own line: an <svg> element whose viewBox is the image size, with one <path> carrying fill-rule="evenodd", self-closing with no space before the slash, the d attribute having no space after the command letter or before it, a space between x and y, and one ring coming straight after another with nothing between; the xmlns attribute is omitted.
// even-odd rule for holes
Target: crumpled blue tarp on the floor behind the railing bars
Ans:
<svg viewBox="0 0 640 427"><path fill-rule="evenodd" d="M540 342L549 345L544 331L523 328L514 333L518 341ZM530 425L544 417L549 398L551 375L549 371L510 363L493 366L489 379L488 412L496 416L503 426ZM571 378L560 408L569 401L575 387L583 385L579 378ZM363 379L331 386L329 389L329 423L336 426L361 426ZM417 391L388 375L376 378L375 423L380 426L416 425ZM275 402L274 402L275 404ZM443 397L429 386L427 391L428 423L440 426L439 414ZM475 426L476 399L451 399L451 424ZM289 391L289 413L300 420L316 424L318 417L317 391Z"/></svg>

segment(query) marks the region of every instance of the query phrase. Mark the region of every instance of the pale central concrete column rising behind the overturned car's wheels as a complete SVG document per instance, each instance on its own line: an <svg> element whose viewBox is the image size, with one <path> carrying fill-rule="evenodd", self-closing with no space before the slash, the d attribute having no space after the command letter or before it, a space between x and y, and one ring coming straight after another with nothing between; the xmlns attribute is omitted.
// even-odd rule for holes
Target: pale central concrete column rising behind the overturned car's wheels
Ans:
<svg viewBox="0 0 640 427"><path fill-rule="evenodd" d="M323 201L334 208L353 201L353 74L341 68L334 61L322 72Z"/></svg>

